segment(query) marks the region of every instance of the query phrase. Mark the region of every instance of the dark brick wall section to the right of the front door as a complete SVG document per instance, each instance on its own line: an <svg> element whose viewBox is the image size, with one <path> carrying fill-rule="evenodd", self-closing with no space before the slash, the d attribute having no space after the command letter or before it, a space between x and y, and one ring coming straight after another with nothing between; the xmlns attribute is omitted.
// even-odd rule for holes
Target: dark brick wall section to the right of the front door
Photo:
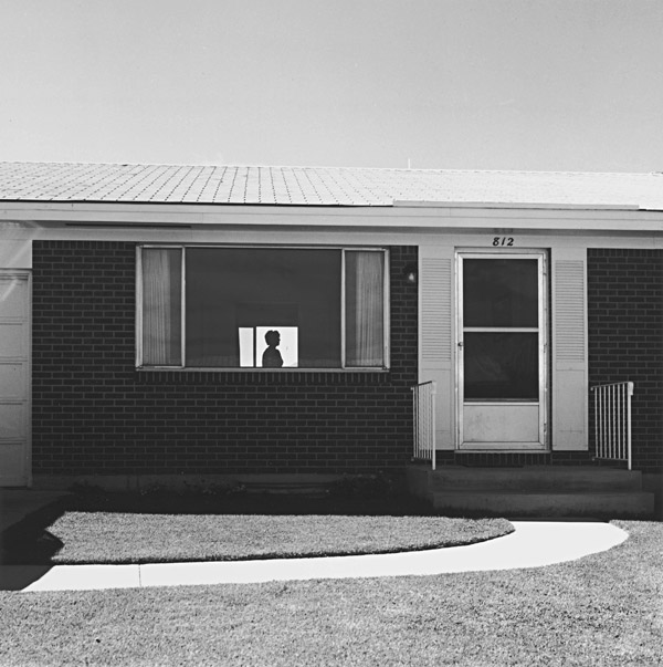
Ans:
<svg viewBox="0 0 663 667"><path fill-rule="evenodd" d="M663 251L588 250L590 386L632 381L633 467L663 470ZM593 414L590 414L593 442Z"/></svg>

